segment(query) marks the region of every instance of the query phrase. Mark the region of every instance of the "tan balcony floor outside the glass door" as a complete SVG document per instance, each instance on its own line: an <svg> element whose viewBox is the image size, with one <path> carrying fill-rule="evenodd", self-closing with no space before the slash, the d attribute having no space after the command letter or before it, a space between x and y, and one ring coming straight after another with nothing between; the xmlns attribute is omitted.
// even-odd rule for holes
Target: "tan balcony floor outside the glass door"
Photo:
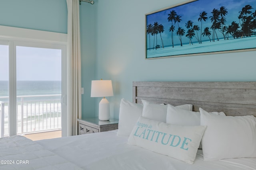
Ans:
<svg viewBox="0 0 256 170"><path fill-rule="evenodd" d="M61 137L61 130L28 134L28 135L24 135L24 137L31 139L32 141L38 141L42 139L53 139L53 138Z"/></svg>

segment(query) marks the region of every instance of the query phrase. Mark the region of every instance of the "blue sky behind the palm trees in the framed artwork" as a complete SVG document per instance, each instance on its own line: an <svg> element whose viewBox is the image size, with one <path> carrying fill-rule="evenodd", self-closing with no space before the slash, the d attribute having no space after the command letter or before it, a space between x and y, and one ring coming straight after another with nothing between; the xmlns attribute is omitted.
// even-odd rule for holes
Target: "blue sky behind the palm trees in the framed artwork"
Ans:
<svg viewBox="0 0 256 170"><path fill-rule="evenodd" d="M187 28L185 26L186 22L188 20L193 21L193 25L198 25L201 27L201 22L198 21L199 15L201 12L205 11L207 13L208 20L205 22L203 21L202 27L204 30L205 27L211 27L212 22L210 20L210 16L212 16L211 12L214 8L220 9L221 6L225 6L228 10L228 14L226 15L226 25L231 25L232 21L236 21L236 23L239 24L238 16L239 11L242 10L242 8L246 5L250 4L252 6L252 12L255 12L256 10L256 1L255 0L197 0L194 2L190 2L188 4L184 4L182 6L173 7L167 10L164 10L162 12L149 14L146 16L146 25L148 24L154 24L154 22L158 22L159 24L162 24L164 26L164 32L162 33L162 39L164 41L164 45L171 45L171 32L169 31L170 26L172 25L171 22L168 21L168 14L170 11L175 10L177 15L181 16L182 21L180 21L179 26L185 29L185 35L187 32ZM178 36L176 35L176 31L178 30L177 23L174 25L175 31L173 33L174 35L174 44L180 44L180 40L178 39ZM212 30L210 30L212 31ZM200 38L200 30L198 31L198 35ZM188 43L189 39L186 36L182 37L182 43ZM218 33L218 37L223 37L220 33ZM149 35L147 35L147 46L149 47ZM150 35L150 43L152 47L153 43L153 37ZM207 40L208 37L203 37L202 40ZM192 39L192 41L196 41L195 38ZM158 45L160 44L160 34L158 34Z"/></svg>

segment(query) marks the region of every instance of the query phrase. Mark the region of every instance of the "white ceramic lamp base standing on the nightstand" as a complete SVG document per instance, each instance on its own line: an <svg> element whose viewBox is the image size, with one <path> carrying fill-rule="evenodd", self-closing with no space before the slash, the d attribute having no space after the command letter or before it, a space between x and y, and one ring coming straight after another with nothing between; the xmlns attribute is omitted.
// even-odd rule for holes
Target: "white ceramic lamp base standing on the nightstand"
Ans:
<svg viewBox="0 0 256 170"><path fill-rule="evenodd" d="M103 121L110 119L110 106L106 98L103 98L99 103L99 119Z"/></svg>

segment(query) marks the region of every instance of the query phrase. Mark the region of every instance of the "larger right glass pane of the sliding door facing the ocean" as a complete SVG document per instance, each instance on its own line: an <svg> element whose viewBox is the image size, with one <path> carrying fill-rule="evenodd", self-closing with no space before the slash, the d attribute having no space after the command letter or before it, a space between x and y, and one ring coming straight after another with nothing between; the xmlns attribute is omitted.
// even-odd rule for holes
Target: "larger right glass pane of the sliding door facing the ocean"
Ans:
<svg viewBox="0 0 256 170"><path fill-rule="evenodd" d="M61 54L16 46L17 134L61 130Z"/></svg>

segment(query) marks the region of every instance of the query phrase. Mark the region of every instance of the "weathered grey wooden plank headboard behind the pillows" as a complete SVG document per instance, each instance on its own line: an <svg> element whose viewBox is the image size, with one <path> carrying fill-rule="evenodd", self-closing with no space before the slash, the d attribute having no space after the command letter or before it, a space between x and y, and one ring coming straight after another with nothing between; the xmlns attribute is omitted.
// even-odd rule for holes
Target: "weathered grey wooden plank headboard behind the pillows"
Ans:
<svg viewBox="0 0 256 170"><path fill-rule="evenodd" d="M226 115L256 116L256 82L133 82L133 102L193 104Z"/></svg>

